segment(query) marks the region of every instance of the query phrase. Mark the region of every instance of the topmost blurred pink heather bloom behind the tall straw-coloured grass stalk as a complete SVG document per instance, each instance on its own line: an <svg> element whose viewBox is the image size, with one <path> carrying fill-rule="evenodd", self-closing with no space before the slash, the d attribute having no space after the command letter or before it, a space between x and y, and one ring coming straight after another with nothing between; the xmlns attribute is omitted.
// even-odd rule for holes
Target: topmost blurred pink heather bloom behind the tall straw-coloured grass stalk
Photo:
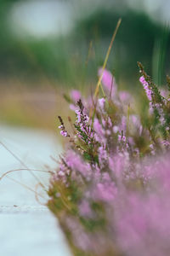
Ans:
<svg viewBox="0 0 170 256"><path fill-rule="evenodd" d="M116 82L111 72L106 69L104 69L103 71L103 68L100 67L98 74L99 74L99 77L102 75L101 82L105 86L105 89L109 90L110 92L112 88L112 94L114 95L116 93Z"/></svg>

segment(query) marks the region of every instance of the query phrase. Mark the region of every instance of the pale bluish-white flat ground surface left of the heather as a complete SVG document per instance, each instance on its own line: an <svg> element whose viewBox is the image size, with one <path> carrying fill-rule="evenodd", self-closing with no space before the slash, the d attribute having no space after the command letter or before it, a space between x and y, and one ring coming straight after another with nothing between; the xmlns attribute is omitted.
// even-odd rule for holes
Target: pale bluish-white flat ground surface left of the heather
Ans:
<svg viewBox="0 0 170 256"><path fill-rule="evenodd" d="M0 142L24 160L31 168L45 170L45 164L56 166L50 155L57 158L61 151L54 135L0 126ZM23 168L14 156L0 144L0 176L4 172ZM48 173L35 172L48 184ZM8 174L35 189L37 180L30 172ZM65 237L47 207L37 202L35 194L8 177L0 181L0 254L3 256L71 256ZM42 189L38 193L45 196ZM39 197L41 202L45 200Z"/></svg>

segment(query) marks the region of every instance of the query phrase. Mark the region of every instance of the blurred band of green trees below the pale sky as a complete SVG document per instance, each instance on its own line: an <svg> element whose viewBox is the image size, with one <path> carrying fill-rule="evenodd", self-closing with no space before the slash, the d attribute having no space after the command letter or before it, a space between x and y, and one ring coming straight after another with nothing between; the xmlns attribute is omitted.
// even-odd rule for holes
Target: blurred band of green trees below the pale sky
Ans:
<svg viewBox="0 0 170 256"><path fill-rule="evenodd" d="M94 81L119 17L122 25L107 66L115 73L117 82L136 84L137 61L144 64L159 84L165 73L169 73L169 29L154 23L144 13L98 9L79 18L74 30L66 36L26 40L14 37L7 26L8 9L15 2L0 3L0 77L34 80L44 77L71 87ZM89 52L90 42L93 44Z"/></svg>

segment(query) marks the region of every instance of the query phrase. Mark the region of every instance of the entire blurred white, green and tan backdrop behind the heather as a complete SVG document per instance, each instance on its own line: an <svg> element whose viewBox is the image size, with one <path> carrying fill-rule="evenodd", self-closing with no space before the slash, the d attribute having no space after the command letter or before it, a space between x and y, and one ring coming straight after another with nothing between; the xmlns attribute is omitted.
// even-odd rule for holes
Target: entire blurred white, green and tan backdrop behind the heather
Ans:
<svg viewBox="0 0 170 256"><path fill-rule="evenodd" d="M141 61L161 86L170 73L167 0L1 0L0 123L56 129L62 93L92 90L118 18L107 68L137 90Z"/></svg>

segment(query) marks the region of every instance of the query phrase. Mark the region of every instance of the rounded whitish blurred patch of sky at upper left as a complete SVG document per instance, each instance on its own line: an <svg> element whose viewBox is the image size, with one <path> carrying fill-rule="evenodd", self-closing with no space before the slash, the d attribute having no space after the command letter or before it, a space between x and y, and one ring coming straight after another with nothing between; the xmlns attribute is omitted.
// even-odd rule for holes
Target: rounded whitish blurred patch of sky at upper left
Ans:
<svg viewBox="0 0 170 256"><path fill-rule="evenodd" d="M9 25L19 37L44 38L71 30L71 4L65 1L34 0L14 3Z"/></svg>

